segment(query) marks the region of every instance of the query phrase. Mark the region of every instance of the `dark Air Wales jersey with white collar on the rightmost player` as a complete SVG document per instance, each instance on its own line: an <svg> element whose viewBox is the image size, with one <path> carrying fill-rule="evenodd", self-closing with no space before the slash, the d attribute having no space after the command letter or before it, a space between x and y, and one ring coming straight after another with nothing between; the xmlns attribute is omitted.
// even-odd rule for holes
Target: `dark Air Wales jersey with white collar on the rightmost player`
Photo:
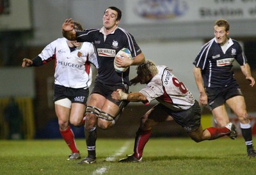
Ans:
<svg viewBox="0 0 256 175"><path fill-rule="evenodd" d="M220 44L213 38L203 45L193 65L202 70L204 87L224 87L236 83L232 63L234 59L239 65L247 63L244 52L236 40L229 38L227 51L223 53Z"/></svg>

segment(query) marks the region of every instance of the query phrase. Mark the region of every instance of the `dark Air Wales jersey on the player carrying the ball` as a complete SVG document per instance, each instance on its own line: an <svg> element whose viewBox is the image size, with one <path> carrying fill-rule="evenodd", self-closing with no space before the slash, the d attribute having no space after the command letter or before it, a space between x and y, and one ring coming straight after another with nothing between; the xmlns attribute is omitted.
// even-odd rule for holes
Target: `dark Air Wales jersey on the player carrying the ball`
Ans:
<svg viewBox="0 0 256 175"><path fill-rule="evenodd" d="M129 69L118 73L114 68L114 59L119 50L127 48L131 51L132 57L141 53L141 49L135 42L132 34L124 29L116 27L115 31L106 36L104 41L103 27L101 29L86 29L77 31L77 42L92 42L97 51L99 70L96 80L107 86L129 85Z"/></svg>

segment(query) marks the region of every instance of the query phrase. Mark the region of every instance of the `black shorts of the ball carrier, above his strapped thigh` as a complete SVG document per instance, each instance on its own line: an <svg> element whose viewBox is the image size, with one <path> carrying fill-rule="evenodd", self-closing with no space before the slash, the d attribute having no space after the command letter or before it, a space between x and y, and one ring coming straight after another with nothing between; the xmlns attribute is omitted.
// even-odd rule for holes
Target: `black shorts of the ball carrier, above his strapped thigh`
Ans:
<svg viewBox="0 0 256 175"><path fill-rule="evenodd" d="M116 91L116 89L122 89L125 93L128 93L128 90L129 90L128 86L123 86L123 87L120 87L120 86L104 86L104 84L102 84L100 82L95 82L91 94L93 94L93 93L100 94L100 95L104 96L106 99L108 99L109 101L111 101L111 102L113 102L113 103L115 103L116 105L119 106L122 101L114 100L111 97L111 94L113 93L113 91Z"/></svg>

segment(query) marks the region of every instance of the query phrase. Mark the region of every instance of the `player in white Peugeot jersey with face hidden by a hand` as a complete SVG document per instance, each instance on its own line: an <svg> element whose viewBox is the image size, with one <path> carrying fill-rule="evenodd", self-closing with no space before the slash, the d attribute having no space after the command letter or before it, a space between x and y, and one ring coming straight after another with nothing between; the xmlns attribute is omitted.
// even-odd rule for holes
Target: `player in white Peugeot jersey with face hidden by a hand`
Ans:
<svg viewBox="0 0 256 175"><path fill-rule="evenodd" d="M74 31L80 30L83 30L81 24L74 22ZM22 67L42 66L52 59L55 61L54 106L60 133L72 151L68 160L76 160L81 155L69 123L74 126L84 125L86 100L92 84L90 63L99 68L97 56L92 43L58 38L33 59L24 58Z"/></svg>

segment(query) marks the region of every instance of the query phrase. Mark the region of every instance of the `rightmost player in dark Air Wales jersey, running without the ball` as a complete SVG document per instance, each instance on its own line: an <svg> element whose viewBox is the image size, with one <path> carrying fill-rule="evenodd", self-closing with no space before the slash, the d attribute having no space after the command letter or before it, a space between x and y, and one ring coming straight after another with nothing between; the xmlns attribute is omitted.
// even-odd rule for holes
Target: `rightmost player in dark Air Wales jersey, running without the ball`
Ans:
<svg viewBox="0 0 256 175"><path fill-rule="evenodd" d="M200 103L202 105L209 104L218 126L223 127L229 123L225 103L233 110L240 121L247 155L255 157L252 126L246 111L244 96L234 79L233 61L236 59L239 63L250 86L254 86L255 80L241 46L236 40L228 37L229 28L227 20L216 20L214 24L215 37L205 43L193 63L196 85L200 93Z"/></svg>

